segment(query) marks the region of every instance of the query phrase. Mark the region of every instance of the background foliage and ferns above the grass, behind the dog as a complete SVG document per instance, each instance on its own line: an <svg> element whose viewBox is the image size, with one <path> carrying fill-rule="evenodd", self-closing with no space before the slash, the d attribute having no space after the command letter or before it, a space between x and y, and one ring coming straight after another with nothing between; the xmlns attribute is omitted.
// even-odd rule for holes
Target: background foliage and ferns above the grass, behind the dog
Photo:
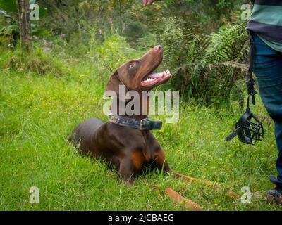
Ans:
<svg viewBox="0 0 282 225"><path fill-rule="evenodd" d="M162 44L164 66L174 75L170 85L183 100L222 105L242 98L248 51L246 24L238 17L241 1L160 0L147 7L140 0L37 4L40 21L31 27L41 45L54 42L75 57L104 58L112 69L125 60L126 51ZM14 45L19 37L16 7L16 0L0 0L0 36ZM120 60L112 63L114 57Z"/></svg>

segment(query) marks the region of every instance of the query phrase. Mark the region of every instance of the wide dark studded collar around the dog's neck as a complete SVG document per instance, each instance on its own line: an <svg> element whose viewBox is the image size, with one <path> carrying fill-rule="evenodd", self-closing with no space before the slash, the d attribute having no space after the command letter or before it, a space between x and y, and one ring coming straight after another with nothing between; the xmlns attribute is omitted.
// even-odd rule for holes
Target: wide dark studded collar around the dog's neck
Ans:
<svg viewBox="0 0 282 225"><path fill-rule="evenodd" d="M109 122L118 124L123 127L131 127L135 129L140 129L142 131L149 131L152 129L161 129L161 121L152 121L148 117L142 120L137 120L128 117L121 117L119 115L109 115Z"/></svg>

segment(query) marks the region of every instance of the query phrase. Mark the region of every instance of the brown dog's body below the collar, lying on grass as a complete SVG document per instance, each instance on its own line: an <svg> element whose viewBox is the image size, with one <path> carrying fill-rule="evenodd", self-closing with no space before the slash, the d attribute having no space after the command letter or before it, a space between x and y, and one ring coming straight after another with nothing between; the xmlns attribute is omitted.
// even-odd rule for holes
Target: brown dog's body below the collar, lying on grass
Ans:
<svg viewBox="0 0 282 225"><path fill-rule="evenodd" d="M85 155L114 165L126 181L145 165L169 171L164 151L150 131L90 119L78 125L73 140Z"/></svg>

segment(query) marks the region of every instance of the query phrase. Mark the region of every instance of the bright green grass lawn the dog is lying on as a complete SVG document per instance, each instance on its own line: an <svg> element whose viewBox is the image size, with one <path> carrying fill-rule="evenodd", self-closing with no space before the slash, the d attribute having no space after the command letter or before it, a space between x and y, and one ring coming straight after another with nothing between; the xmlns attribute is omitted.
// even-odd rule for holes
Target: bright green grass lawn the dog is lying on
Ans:
<svg viewBox="0 0 282 225"><path fill-rule="evenodd" d="M276 174L272 123L265 123L265 139L257 146L237 139L226 143L241 110L181 103L180 121L153 133L175 171L213 181L224 191L157 171L142 174L128 186L104 162L82 157L67 141L79 122L89 117L106 120L102 94L110 72L71 59L63 62L67 72L59 77L21 66L5 68L15 54L0 54L0 210L183 210L164 194L167 187L203 210L281 210L263 197L245 205L226 195L228 190L243 194L243 186L254 192L273 187L268 180L269 174ZM255 112L267 116L260 101ZM32 186L39 188L39 204L29 202Z"/></svg>

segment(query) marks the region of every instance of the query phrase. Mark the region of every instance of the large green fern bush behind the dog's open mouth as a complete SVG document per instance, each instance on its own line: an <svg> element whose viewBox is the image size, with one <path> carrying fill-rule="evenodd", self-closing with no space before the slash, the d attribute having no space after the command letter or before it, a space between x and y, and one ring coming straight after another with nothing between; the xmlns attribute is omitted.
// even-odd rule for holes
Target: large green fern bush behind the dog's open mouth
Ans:
<svg viewBox="0 0 282 225"><path fill-rule="evenodd" d="M163 18L160 23L158 37L166 48L166 67L175 75L173 88L184 99L197 98L209 104L240 100L242 91L237 82L245 70L238 68L238 62L245 63L247 56L245 24L227 24L205 34L189 21Z"/></svg>

